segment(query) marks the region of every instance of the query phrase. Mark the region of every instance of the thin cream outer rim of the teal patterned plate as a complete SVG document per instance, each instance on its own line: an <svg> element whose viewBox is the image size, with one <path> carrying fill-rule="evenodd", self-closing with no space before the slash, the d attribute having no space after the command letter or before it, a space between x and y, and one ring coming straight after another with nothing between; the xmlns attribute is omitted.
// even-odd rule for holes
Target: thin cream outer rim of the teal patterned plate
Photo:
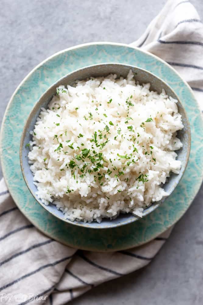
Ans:
<svg viewBox="0 0 203 305"><path fill-rule="evenodd" d="M27 80L28 77L30 77L30 75L31 75L35 70L37 70L40 66L44 65L44 63L46 63L48 60L50 60L50 59L52 59L52 58L58 56L59 54L68 52L68 51L70 51L70 50L82 48L82 47L85 47L85 46L91 46L91 45L115 45L115 46L123 46L123 47L126 47L126 48L132 48L132 49L138 50L139 52L141 51L141 52L143 52L143 53L145 53L145 54L147 54L147 55L149 55L149 56L151 56L151 57L154 57L155 59L157 59L157 60L159 60L160 62L164 63L164 65L168 66L171 70L173 70L173 72L175 72L175 74L177 74L177 75L180 77L180 79L183 81L183 83L187 86L187 89L190 91L190 93L191 93L193 99L196 100L196 98L195 98L195 96L194 96L194 93L193 93L191 87L190 87L190 86L187 84L187 82L181 77L181 75L177 72L177 70L175 70L172 66L170 66L167 62L165 62L163 59L159 58L158 56L156 56L156 55L154 55L154 54L152 54L152 53L150 53L150 52L148 52L148 51L142 50L142 49L140 49L140 48L138 48L138 47L135 47L135 46L132 46L132 45L128 45L128 44L116 43L116 42L107 42L107 41L89 42L89 43L79 44L79 45L72 46L72 47L70 47L70 48L65 48L65 49L63 49L63 50L60 50L60 51L58 51L58 52L52 54L51 56L47 57L47 58L44 59L42 62L40 62L37 66L35 66L35 67L34 67L34 68L33 68L24 78L23 78L23 80L19 83L19 85L16 87L15 91L14 91L13 94L11 95L11 98L9 99L9 102L8 102L8 104L7 104L7 106L6 106L6 109L5 109L5 113L4 113L4 116L3 116L3 119L2 119L2 125L5 123L6 113L8 112L9 106L10 106L10 104L11 104L11 102L12 102L14 96L16 95L16 92L19 90L19 88L22 86L22 84ZM199 106L198 102L197 102L197 106L198 106L199 112L201 113L201 109L200 109L200 106ZM202 122L203 122L203 117L201 117L201 120L202 120ZM1 125L1 126L2 126L2 125ZM2 128L1 128L1 131L0 131L0 144L1 144L1 142L2 142L2 133L3 133L3 131L2 131ZM0 147L0 159L1 159L1 166L2 166L3 177L5 177L5 175L4 175L4 173L5 173L5 167L4 167L4 164L2 164L2 147ZM202 181L202 179L203 179L203 172L202 172L200 178L201 178L201 181ZM9 189L10 187L9 187L9 185L7 184L6 179L5 179L5 183L6 183L7 187L8 187L8 189ZM196 192L194 198L192 199L191 203L194 201L194 199L195 199L195 197L197 196L197 194L198 194L200 188L201 188L201 184L199 185L199 187L198 187L198 189L197 189L197 192ZM9 193L10 193L11 197L13 198L13 196L12 196L10 190L9 190ZM13 200L14 200L14 199L13 199ZM15 202L15 200L14 200L14 202ZM16 202L15 202L15 203L16 203ZM191 206L191 203L190 203L190 205L187 207L187 209L184 211L184 213L185 213L185 212L188 210L188 208ZM20 211L23 213L23 215L24 215L24 212L23 212L23 210L21 210L21 207L19 207L19 205L18 205L17 203L16 203L16 205L18 206L19 210L20 210ZM184 215L184 213L183 213L179 218L176 219L176 221L174 222L174 224ZM25 215L24 215L24 216L25 216ZM26 216L25 216L25 217L26 217ZM26 217L26 218L27 218L27 217ZM27 219L28 219L28 218L27 218ZM28 220L29 220L31 223L33 223L34 226L35 226L37 229L39 229L42 233L44 233L43 229L39 228L38 225L35 224L35 222L33 221L33 219L30 220L30 218L29 218ZM171 227L171 225L166 225L164 231L166 231L169 227ZM142 244L145 244L146 242L149 242L149 241L153 240L154 238L156 238L156 236L162 234L164 231L162 231L161 233L159 232L158 234L155 232L154 236L151 236L148 240L145 240L145 241L143 241L143 242L139 242L138 245L134 245L134 246L132 246L132 247L136 247L136 246L140 246L140 245L142 245ZM47 232L44 233L44 234L47 235L47 236L52 237L50 234L47 234ZM52 237L52 238L53 238L53 237ZM65 244L66 246L70 246L70 245L68 245L66 242L62 242L60 239L58 239L58 238L56 238L56 237L54 237L54 239L57 240L57 241L59 241L60 243ZM73 245L71 245L71 247L74 248ZM87 248L86 248L86 247L82 247L81 249L90 250L89 247L87 247ZM121 247L121 248L119 248L119 249L105 249L105 250L103 250L103 251L102 251L102 250L97 250L97 251L99 251L99 252L112 252L112 251L118 251L118 250L120 250L120 249L123 250L123 249L127 249L127 248L126 248L126 247L123 247L123 248ZM93 251L96 251L96 250L94 249Z"/></svg>

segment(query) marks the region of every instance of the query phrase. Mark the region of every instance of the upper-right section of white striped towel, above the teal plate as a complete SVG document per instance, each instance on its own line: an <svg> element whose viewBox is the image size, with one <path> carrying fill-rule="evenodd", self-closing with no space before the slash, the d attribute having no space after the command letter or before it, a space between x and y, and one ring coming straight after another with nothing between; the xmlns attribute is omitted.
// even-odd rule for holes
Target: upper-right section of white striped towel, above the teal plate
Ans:
<svg viewBox="0 0 203 305"><path fill-rule="evenodd" d="M189 1L169 0L131 45L173 66L191 86L203 110L203 25Z"/></svg>

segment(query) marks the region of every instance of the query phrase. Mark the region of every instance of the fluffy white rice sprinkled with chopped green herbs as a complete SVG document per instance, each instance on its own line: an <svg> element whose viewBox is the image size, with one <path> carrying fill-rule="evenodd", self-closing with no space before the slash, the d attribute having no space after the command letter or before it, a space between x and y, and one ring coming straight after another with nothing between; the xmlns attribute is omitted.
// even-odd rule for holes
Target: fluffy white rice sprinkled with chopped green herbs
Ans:
<svg viewBox="0 0 203 305"><path fill-rule="evenodd" d="M184 126L177 100L149 88L132 71L127 79L111 74L59 86L30 132L42 203L54 203L71 221L100 222L120 212L142 216L168 195L161 184L180 171L174 150L182 147L176 132Z"/></svg>

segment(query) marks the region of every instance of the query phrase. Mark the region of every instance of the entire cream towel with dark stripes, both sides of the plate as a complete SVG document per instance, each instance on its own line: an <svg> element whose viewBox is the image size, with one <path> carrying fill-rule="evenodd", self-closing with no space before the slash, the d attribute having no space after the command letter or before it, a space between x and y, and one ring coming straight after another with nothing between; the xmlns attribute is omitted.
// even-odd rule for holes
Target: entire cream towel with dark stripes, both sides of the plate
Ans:
<svg viewBox="0 0 203 305"><path fill-rule="evenodd" d="M189 1L168 1L132 43L170 63L203 96L203 26ZM200 103L201 106L201 103ZM77 251L39 232L0 182L0 303L61 305L92 287L149 264L172 229L143 246L115 253Z"/></svg>

